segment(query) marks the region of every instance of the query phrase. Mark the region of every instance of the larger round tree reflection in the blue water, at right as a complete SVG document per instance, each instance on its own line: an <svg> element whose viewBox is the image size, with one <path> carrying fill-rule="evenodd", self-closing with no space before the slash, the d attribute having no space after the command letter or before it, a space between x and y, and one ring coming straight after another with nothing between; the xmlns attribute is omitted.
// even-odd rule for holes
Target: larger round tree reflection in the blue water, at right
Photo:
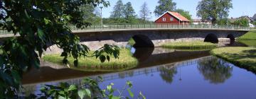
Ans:
<svg viewBox="0 0 256 99"><path fill-rule="evenodd" d="M217 57L212 57L210 59L201 59L201 61L198 62L198 70L210 83L218 84L224 83L226 79L232 76L233 68L228 62L224 62Z"/></svg>

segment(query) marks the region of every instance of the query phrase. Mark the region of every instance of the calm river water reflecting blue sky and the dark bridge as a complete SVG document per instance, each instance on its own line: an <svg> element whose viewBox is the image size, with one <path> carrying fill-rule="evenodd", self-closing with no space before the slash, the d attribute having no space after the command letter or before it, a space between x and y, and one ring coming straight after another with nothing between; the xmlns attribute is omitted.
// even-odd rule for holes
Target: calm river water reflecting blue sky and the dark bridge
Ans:
<svg viewBox="0 0 256 99"><path fill-rule="evenodd" d="M133 52L134 57L139 59L139 66L117 73L85 73L53 67L28 72L23 79L26 88L24 93L39 93L41 84L45 83L58 85L65 81L79 85L86 76L102 76L105 80L100 83L100 87L105 88L114 83L114 88L121 89L126 81L132 81L134 94L138 95L142 91L148 99L256 98L256 75L210 56L208 50L154 48ZM47 71L47 74L43 71Z"/></svg>

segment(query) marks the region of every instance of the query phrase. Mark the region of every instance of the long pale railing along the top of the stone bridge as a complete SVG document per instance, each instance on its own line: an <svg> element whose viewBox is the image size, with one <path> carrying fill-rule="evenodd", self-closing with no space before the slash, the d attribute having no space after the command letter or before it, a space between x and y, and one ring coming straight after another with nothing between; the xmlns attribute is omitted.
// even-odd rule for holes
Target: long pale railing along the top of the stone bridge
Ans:
<svg viewBox="0 0 256 99"><path fill-rule="evenodd" d="M156 29L209 29L209 30L250 30L249 27L238 25L175 25L175 24L114 24L114 25L91 25L86 28L76 28L70 25L74 33L113 30L156 30Z"/></svg>

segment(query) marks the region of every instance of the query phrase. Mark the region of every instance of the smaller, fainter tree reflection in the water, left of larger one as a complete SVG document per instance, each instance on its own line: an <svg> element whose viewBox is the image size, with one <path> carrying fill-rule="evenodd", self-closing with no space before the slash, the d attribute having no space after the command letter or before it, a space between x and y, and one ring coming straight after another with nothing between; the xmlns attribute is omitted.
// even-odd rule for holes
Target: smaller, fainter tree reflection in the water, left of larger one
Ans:
<svg viewBox="0 0 256 99"><path fill-rule="evenodd" d="M166 83L171 83L174 75L177 74L177 68L174 67L174 64L169 66L161 66L159 71L161 78L166 81Z"/></svg>

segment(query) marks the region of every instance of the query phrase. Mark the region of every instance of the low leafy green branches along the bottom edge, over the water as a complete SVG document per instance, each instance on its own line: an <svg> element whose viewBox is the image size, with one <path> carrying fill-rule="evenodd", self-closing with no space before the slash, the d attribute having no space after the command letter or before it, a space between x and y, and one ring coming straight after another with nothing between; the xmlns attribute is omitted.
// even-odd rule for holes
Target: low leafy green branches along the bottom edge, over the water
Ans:
<svg viewBox="0 0 256 99"><path fill-rule="evenodd" d="M83 98L109 98L109 99L119 99L119 98L134 98L134 93L132 93L132 82L127 81L125 86L119 90L115 89L114 83L110 83L107 88L100 88L99 82L102 82L102 78L98 77L96 79L85 78L82 80L80 86L70 85L69 83L60 83L58 86L45 85L41 88L41 93L38 95L31 94L26 98L55 98L55 99L83 99ZM128 96L123 96L124 91L129 93ZM118 92L118 94L114 94ZM142 92L139 93L138 99L145 99Z"/></svg>

